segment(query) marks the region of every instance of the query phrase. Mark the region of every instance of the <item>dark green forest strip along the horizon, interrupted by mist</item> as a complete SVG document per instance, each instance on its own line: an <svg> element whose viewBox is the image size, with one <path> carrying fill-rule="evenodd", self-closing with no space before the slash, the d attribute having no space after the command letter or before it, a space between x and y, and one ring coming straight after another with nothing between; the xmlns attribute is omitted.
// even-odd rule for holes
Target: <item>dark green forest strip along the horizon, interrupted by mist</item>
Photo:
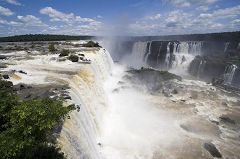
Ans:
<svg viewBox="0 0 240 159"><path fill-rule="evenodd" d="M28 34L9 37L0 37L0 42L23 42L23 41L66 41L66 40L91 40L94 36L69 36L69 35L49 35L49 34ZM176 40L176 41L239 41L240 31L207 33L207 34L186 34L169 36L135 36L118 37L119 39L129 39L129 41L153 41L153 40Z"/></svg>

